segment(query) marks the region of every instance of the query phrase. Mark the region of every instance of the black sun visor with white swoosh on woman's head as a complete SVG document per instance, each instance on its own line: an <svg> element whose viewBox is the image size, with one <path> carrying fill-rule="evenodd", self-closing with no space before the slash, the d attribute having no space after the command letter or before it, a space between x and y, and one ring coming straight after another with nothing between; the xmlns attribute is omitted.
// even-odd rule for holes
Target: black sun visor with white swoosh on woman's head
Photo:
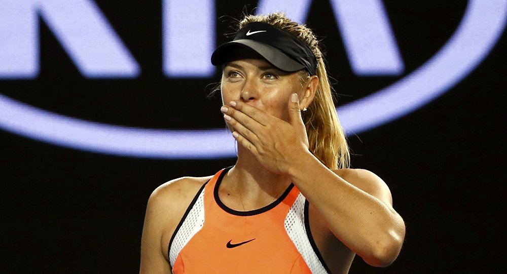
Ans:
<svg viewBox="0 0 507 274"><path fill-rule="evenodd" d="M224 64L235 47L255 51L283 71L306 69L315 75L317 60L298 37L268 23L253 22L238 31L233 41L220 45L211 55L211 64Z"/></svg>

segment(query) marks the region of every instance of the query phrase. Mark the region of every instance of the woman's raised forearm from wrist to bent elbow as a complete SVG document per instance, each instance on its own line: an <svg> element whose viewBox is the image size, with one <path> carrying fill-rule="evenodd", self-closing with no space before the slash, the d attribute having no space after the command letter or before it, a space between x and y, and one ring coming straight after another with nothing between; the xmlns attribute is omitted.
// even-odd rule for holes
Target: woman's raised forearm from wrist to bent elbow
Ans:
<svg viewBox="0 0 507 274"><path fill-rule="evenodd" d="M289 176L335 236L365 261L384 266L396 258L405 226L390 204L345 181L311 154L292 165Z"/></svg>

